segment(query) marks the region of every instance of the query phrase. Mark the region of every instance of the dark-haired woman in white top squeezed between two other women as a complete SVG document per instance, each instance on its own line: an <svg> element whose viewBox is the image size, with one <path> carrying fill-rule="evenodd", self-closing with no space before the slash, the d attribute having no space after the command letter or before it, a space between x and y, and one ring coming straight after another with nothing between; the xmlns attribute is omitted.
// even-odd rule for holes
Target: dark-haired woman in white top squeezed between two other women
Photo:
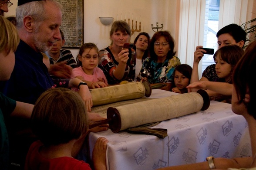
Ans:
<svg viewBox="0 0 256 170"><path fill-rule="evenodd" d="M136 51L136 68L135 68L135 78L136 82L137 76L141 71L142 63L148 57L148 44L150 36L148 33L141 32L136 36L133 42L133 49Z"/></svg>

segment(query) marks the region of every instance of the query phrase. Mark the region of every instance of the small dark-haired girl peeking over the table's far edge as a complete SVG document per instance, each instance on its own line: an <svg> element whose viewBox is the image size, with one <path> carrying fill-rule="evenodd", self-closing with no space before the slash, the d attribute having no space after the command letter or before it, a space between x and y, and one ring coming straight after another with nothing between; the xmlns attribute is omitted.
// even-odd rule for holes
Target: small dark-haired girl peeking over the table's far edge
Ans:
<svg viewBox="0 0 256 170"><path fill-rule="evenodd" d="M188 64L181 64L175 68L174 77L172 81L172 92L175 93L187 93L186 88L190 83L192 74L192 67Z"/></svg>

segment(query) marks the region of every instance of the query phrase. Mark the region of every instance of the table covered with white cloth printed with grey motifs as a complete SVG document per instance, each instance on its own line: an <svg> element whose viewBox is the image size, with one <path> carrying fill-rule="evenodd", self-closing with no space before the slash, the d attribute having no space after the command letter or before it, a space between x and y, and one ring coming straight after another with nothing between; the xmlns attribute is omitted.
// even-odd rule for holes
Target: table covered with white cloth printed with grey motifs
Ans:
<svg viewBox="0 0 256 170"><path fill-rule="evenodd" d="M178 94L154 89L149 98L169 95ZM109 141L108 170L154 170L203 162L208 156L232 158L252 155L247 122L243 116L232 112L231 104L211 101L205 111L162 121L154 128L167 129L168 137L161 139L126 131L113 133L110 129L90 133L90 154L98 137L106 137Z"/></svg>

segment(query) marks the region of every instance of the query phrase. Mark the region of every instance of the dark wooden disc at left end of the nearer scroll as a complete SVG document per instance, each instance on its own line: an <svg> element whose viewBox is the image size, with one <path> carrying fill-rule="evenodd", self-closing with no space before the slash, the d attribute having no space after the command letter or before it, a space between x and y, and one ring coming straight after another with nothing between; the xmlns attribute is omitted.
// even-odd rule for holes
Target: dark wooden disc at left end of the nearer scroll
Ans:
<svg viewBox="0 0 256 170"><path fill-rule="evenodd" d="M109 107L107 109L108 124L112 132L118 133L121 129L121 116L116 108Z"/></svg>

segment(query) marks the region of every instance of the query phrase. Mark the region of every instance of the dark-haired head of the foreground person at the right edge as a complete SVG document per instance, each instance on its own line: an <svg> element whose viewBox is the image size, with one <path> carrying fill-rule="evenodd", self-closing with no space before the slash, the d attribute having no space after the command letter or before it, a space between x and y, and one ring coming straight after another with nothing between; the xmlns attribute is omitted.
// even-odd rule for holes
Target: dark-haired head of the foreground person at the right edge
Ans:
<svg viewBox="0 0 256 170"><path fill-rule="evenodd" d="M232 93L232 111L236 114L244 114L243 105L248 114L256 119L256 41L251 42L246 47L243 57L237 63L233 71L233 93Z"/></svg>

